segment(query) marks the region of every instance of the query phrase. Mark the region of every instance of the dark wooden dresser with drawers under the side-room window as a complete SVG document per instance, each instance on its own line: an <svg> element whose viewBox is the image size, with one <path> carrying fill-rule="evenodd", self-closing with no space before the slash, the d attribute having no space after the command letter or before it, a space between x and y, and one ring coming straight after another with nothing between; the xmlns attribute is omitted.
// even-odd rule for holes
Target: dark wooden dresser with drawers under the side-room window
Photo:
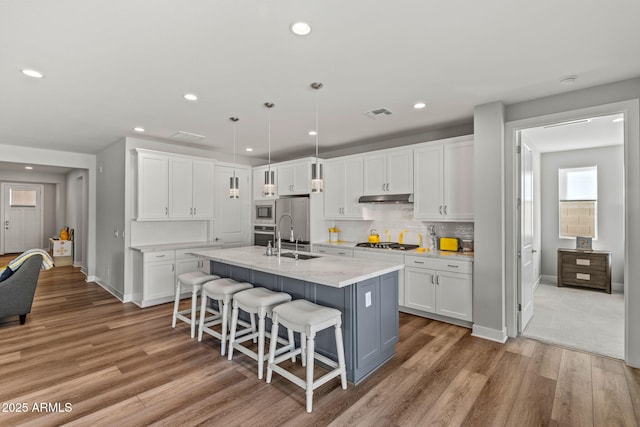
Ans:
<svg viewBox="0 0 640 427"><path fill-rule="evenodd" d="M558 249L558 287L562 286L611 293L611 252Z"/></svg>

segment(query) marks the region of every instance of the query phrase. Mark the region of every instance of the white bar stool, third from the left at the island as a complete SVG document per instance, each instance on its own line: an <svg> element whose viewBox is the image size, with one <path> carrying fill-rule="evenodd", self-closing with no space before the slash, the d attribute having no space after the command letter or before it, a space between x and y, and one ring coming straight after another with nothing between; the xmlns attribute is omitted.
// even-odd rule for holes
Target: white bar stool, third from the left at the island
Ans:
<svg viewBox="0 0 640 427"><path fill-rule="evenodd" d="M270 340L273 336L270 333L265 333L265 317L271 317L271 310L282 303L291 301L291 295L284 292L274 292L266 288L253 288L247 289L242 292L238 292L233 296L233 311L231 312L231 332L229 333L229 360L233 358L233 349L237 349L241 353L246 354L253 360L258 362L258 379L262 379L262 373L264 371L264 338L268 336ZM238 315L240 310L249 313L253 320L253 315L258 315L258 331L254 328L237 330L238 327ZM252 322L253 324L253 322ZM248 340L254 340L258 338L258 352L242 345L243 342ZM285 347L278 349L276 353L282 353L283 351L291 350L294 346L293 331L289 330L289 342L276 336ZM274 340L275 341L275 340ZM268 356L268 354L267 354ZM293 358L295 361L295 356Z"/></svg>

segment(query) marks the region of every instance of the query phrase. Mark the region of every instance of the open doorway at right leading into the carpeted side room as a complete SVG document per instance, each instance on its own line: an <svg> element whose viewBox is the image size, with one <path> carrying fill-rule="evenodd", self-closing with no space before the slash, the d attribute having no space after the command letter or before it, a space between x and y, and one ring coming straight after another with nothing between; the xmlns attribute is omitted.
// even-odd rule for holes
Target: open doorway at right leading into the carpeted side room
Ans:
<svg viewBox="0 0 640 427"><path fill-rule="evenodd" d="M623 121L622 114L592 116L518 133L518 332L619 359L624 358ZM531 166L532 151L538 159L537 168ZM587 179L586 169L592 181ZM573 177L570 181L567 173ZM581 208L572 209L574 205ZM586 205L591 209L583 208ZM582 211L590 213L578 215ZM592 237L593 249L612 252L612 294L589 290L586 286L590 283L582 288L557 286L557 250L574 249L578 235Z"/></svg>

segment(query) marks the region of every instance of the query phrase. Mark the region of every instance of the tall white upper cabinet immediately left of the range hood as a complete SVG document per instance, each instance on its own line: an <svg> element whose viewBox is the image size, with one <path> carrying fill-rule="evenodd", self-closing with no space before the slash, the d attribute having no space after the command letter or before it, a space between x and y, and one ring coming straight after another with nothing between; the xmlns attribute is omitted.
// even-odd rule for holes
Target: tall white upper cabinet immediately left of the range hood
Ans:
<svg viewBox="0 0 640 427"><path fill-rule="evenodd" d="M362 169L362 156L325 160L325 219L362 218L362 209L358 203L363 189Z"/></svg>

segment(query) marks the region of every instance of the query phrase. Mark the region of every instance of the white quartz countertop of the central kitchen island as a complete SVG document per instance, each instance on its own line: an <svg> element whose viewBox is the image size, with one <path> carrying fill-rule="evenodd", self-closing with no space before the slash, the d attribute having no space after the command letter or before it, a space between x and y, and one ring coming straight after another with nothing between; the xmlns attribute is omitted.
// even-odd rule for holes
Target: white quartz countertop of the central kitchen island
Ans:
<svg viewBox="0 0 640 427"><path fill-rule="evenodd" d="M194 251L193 254L225 264L336 288L349 286L404 268L404 264L396 262L371 262L371 260L333 255L320 255L314 259L295 260L286 257L266 256L265 249L262 246L244 246L241 248ZM309 254L309 252L299 253Z"/></svg>

